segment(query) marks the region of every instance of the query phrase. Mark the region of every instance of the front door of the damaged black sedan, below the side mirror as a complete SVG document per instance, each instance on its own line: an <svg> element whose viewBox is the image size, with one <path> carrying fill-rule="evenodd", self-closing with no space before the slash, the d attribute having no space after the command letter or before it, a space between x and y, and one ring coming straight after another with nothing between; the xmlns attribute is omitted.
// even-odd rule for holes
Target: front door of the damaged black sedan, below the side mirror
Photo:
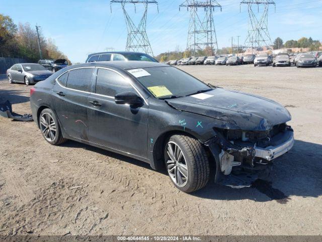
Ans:
<svg viewBox="0 0 322 242"><path fill-rule="evenodd" d="M111 69L97 69L95 93L89 96L90 141L146 158L148 106L116 104L117 93L137 93L131 84Z"/></svg>

